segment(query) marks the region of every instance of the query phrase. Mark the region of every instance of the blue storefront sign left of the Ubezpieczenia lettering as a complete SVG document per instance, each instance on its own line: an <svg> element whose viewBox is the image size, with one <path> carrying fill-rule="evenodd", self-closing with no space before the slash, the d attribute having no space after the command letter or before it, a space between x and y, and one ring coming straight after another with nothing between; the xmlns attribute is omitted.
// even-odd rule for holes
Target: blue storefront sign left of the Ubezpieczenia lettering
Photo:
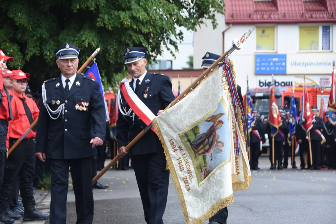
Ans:
<svg viewBox="0 0 336 224"><path fill-rule="evenodd" d="M286 74L286 54L256 54L255 74Z"/></svg>

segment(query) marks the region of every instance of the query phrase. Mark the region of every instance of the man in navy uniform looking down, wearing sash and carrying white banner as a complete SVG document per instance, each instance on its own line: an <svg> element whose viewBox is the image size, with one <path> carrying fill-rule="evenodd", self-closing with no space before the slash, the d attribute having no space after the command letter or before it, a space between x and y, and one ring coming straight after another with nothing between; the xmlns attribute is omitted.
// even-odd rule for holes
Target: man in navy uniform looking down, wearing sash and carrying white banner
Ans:
<svg viewBox="0 0 336 224"><path fill-rule="evenodd" d="M125 64L131 74L130 87L139 99L155 114L162 113L173 100L174 94L170 79L166 75L151 74L146 71L146 48L127 47ZM130 107L123 95L122 107L127 112ZM134 117L133 117L134 115ZM127 154L125 146L145 127L140 118L131 113L131 117L118 114L117 120L118 154ZM166 208L169 171L166 170L166 158L158 136L149 130L129 151L138 183L144 219L148 224L163 224L162 216Z"/></svg>

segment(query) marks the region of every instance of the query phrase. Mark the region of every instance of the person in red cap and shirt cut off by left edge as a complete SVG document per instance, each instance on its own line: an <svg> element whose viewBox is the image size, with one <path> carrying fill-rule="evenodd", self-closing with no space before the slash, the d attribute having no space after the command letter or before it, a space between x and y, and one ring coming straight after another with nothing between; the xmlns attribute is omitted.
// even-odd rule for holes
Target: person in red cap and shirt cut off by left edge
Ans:
<svg viewBox="0 0 336 224"><path fill-rule="evenodd" d="M2 50L0 50L0 186L3 181L5 162L7 157L6 148L6 136L7 136L7 127L8 122L12 117L12 111L10 106L10 100L8 100L8 91L4 87L3 79L6 81L9 77L10 71L7 70L7 61L12 61L13 57L7 57ZM8 80L9 83L9 80ZM1 189L0 189L1 191ZM0 224L5 223L13 223L14 220L9 218L5 213L4 209L0 207Z"/></svg>

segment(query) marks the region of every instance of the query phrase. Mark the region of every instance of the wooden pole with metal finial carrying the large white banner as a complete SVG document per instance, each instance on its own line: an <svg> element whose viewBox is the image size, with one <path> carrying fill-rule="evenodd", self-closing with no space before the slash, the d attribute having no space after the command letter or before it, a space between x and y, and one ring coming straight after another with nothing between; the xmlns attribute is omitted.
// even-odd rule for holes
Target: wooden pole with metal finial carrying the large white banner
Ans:
<svg viewBox="0 0 336 224"><path fill-rule="evenodd" d="M222 55L220 56L203 74L198 77L190 86L188 86L179 96L176 97L176 99L171 102L166 109L169 107L175 105L177 102L179 102L183 97L187 95L188 92L192 91L197 85L200 84L200 82L206 78L206 76L218 65L219 62L224 60L226 56L231 54L234 50L240 50L243 47L243 43L245 40L250 36L250 34L253 32L254 27L250 30L248 30L241 38L240 40L235 39L232 41L232 46ZM130 148L140 139L142 138L146 132L148 132L152 128L153 124L149 124L147 127L145 127L128 145L125 147L125 151L128 152ZM104 173L106 173L118 160L120 159L120 156L117 155L104 169L102 169L93 179L92 184L94 184Z"/></svg>

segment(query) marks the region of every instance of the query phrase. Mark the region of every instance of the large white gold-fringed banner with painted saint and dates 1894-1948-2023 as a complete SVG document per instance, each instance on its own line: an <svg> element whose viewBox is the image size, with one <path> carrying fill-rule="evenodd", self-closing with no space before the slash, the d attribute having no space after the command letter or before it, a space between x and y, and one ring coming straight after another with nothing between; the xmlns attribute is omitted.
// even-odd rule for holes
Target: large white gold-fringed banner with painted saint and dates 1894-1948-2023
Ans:
<svg viewBox="0 0 336 224"><path fill-rule="evenodd" d="M152 122L164 147L187 224L203 223L233 203L233 191L249 186L246 140L242 123L236 122L237 105L233 105L227 91L228 70L235 76L233 67L225 63L217 66ZM239 113L244 116L243 111ZM241 151L238 155L236 133Z"/></svg>

